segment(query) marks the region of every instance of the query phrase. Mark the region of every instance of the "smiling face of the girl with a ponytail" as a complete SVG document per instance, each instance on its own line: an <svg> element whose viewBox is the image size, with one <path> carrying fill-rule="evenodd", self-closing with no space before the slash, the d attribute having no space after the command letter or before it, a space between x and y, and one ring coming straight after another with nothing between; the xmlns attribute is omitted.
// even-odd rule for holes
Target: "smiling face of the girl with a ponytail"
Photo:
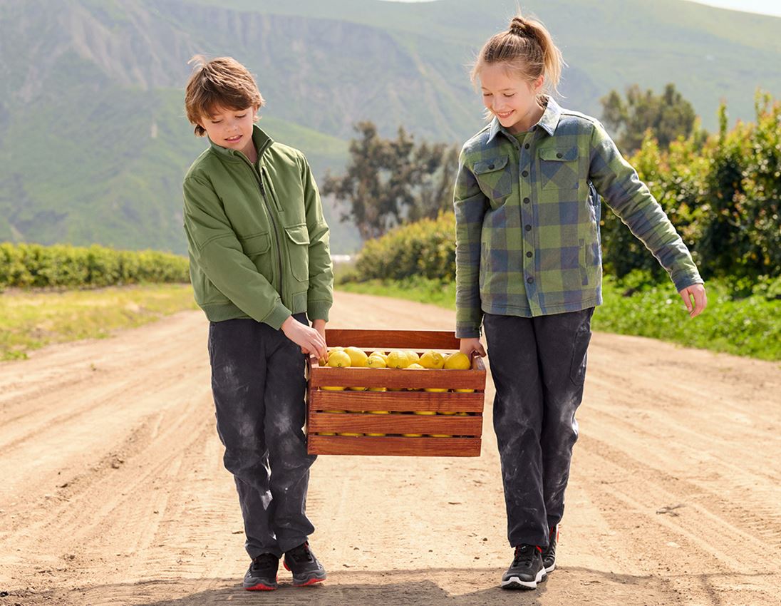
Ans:
<svg viewBox="0 0 781 606"><path fill-rule="evenodd" d="M511 133L529 130L542 115L537 94L544 77L534 82L519 77L505 63L489 63L480 70L483 105Z"/></svg>

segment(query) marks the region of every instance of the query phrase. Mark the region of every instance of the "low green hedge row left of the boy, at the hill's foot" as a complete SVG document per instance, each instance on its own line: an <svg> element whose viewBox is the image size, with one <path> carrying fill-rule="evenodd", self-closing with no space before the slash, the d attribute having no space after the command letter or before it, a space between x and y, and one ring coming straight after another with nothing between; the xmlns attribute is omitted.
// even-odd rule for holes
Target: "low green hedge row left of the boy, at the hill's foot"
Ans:
<svg viewBox="0 0 781 606"><path fill-rule="evenodd" d="M159 251L116 251L97 244L0 244L0 289L187 283L187 258Z"/></svg>

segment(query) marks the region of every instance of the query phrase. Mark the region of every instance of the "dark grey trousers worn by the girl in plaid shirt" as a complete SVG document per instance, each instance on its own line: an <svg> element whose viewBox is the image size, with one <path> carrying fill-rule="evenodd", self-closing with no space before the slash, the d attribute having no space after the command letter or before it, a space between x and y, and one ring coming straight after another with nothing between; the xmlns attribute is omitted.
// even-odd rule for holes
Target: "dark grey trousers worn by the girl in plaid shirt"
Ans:
<svg viewBox="0 0 781 606"><path fill-rule="evenodd" d="M564 514L593 313L484 316L512 547L546 547Z"/></svg>

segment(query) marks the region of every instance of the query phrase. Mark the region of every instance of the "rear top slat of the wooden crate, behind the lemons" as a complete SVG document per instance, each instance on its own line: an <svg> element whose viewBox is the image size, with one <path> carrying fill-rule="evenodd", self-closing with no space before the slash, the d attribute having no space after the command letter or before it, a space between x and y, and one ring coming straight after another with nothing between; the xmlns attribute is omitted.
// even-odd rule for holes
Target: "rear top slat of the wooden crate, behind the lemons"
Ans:
<svg viewBox="0 0 781 606"><path fill-rule="evenodd" d="M461 341L448 330L373 330L326 328L329 347L356 347L374 349L452 349L458 350Z"/></svg>

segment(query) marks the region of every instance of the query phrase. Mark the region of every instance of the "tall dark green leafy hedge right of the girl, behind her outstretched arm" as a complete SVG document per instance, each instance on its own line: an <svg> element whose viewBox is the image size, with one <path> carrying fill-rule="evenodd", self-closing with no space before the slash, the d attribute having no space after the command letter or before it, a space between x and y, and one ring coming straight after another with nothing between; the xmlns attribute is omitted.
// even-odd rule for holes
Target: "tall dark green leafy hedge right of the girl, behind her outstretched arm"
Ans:
<svg viewBox="0 0 781 606"><path fill-rule="evenodd" d="M673 141L668 150L647 134L629 162L692 251L705 279L722 277L749 285L781 275L781 103L757 94L756 123L727 130L726 108L719 134ZM633 269L664 277L656 260L621 221L604 208L604 266L622 277Z"/></svg>

